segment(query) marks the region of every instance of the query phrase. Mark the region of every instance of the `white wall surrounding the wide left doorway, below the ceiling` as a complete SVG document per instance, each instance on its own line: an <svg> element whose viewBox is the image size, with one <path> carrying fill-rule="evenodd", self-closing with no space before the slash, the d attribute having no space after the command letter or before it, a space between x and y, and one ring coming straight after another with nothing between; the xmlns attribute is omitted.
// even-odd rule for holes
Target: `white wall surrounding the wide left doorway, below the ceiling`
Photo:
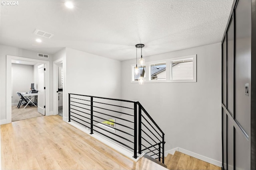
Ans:
<svg viewBox="0 0 256 170"><path fill-rule="evenodd" d="M0 45L0 119L1 123L6 119L6 55L13 55L18 57L26 57L31 59L38 59L44 61L50 61L50 111L52 111L52 55L49 55L49 59L43 57L37 57L37 52L29 51L25 49L19 49L16 47L10 47ZM11 86L11 84L10 84Z"/></svg>

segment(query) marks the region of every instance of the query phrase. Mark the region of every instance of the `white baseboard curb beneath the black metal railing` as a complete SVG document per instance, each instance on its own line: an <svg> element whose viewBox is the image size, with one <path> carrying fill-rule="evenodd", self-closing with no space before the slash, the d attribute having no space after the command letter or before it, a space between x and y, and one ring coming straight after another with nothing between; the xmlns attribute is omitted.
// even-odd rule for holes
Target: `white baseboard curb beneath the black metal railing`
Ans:
<svg viewBox="0 0 256 170"><path fill-rule="evenodd" d="M143 156L143 154L138 154L137 153L138 158L135 159L135 158L132 157L133 154L134 154L132 151L130 151L128 149L125 149L125 148L121 147L120 145L117 145L116 143L114 143L114 142L112 142L112 141L110 141L110 140L108 140L108 139L106 139L106 138L104 138L104 137L102 137L102 136L100 136L100 135L98 135L96 133L90 134L90 130L89 129L81 127L80 125L77 125L76 123L72 123L72 122L67 122L67 123L69 123L70 125L76 127L77 129L83 131L84 133L87 133L91 137L97 139L98 141L104 143L105 145L111 147L112 149L120 152L121 154L127 156L131 160L134 160L134 161L137 162ZM138 152L138 150L137 150L137 152Z"/></svg>

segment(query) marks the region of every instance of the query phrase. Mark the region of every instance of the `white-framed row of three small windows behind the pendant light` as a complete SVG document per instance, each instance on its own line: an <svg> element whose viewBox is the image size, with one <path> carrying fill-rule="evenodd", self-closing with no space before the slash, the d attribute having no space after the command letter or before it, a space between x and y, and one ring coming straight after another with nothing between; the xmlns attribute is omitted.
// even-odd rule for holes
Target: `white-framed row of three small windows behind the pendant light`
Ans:
<svg viewBox="0 0 256 170"><path fill-rule="evenodd" d="M140 71L138 75L134 73L135 66L135 64L131 65L132 83L137 83L140 74L145 83L196 82L196 55L149 61L143 68L138 67Z"/></svg>

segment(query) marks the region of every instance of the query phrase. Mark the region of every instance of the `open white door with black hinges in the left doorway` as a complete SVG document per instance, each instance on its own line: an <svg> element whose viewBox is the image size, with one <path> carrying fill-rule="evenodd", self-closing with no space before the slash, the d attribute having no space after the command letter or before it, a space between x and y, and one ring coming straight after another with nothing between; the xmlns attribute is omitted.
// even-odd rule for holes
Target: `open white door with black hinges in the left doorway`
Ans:
<svg viewBox="0 0 256 170"><path fill-rule="evenodd" d="M44 64L38 66L37 111L45 115Z"/></svg>

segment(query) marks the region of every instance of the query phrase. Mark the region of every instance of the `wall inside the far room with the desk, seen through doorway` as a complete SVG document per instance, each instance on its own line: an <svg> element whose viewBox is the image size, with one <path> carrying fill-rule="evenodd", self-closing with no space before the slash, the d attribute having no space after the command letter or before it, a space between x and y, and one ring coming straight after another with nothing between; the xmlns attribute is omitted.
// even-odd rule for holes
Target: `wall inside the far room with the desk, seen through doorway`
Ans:
<svg viewBox="0 0 256 170"><path fill-rule="evenodd" d="M20 97L16 92L29 92L31 83L34 83L33 66L12 64L12 104L18 104Z"/></svg>

